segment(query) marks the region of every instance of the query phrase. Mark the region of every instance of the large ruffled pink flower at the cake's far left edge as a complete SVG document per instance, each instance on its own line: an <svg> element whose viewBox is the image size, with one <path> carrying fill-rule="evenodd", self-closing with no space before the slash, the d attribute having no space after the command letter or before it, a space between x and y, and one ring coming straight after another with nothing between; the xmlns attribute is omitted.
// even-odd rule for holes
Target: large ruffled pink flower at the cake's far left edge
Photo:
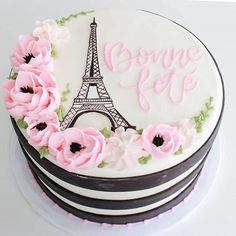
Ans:
<svg viewBox="0 0 236 236"><path fill-rule="evenodd" d="M20 71L16 80L4 82L6 109L16 119L33 114L44 115L60 105L60 93L55 79L49 73L39 76Z"/></svg>

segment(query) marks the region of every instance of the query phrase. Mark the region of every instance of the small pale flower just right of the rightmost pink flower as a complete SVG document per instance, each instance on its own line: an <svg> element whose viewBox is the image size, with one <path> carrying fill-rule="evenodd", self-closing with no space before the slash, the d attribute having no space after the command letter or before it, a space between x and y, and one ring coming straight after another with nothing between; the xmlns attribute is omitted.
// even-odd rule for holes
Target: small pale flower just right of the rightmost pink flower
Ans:
<svg viewBox="0 0 236 236"><path fill-rule="evenodd" d="M188 147L192 143L193 139L197 136L195 122L192 119L186 118L178 121L175 126L181 135L182 146L184 148Z"/></svg>

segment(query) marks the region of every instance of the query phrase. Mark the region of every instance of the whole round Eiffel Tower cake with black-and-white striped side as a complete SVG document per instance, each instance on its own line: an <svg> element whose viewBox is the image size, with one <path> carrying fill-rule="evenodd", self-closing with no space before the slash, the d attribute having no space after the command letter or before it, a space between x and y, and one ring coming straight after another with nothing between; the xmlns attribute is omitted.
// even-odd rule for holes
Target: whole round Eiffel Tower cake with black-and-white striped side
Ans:
<svg viewBox="0 0 236 236"><path fill-rule="evenodd" d="M224 88L190 31L141 10L79 12L36 22L10 59L6 109L35 180L61 208L127 224L193 190Z"/></svg>

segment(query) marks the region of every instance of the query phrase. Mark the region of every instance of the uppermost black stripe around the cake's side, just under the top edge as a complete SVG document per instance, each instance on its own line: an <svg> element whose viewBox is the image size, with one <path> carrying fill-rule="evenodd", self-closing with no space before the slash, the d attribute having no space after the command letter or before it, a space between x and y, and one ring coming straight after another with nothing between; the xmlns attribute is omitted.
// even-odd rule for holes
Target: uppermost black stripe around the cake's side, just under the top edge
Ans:
<svg viewBox="0 0 236 236"><path fill-rule="evenodd" d="M45 169L55 177L78 187L88 188L89 186L89 189L91 190L125 192L156 187L178 177L179 175L183 174L188 169L193 167L202 159L202 157L211 147L219 128L219 121L211 136L203 144L203 146L183 162L171 168L152 174L124 178L91 177L68 172L61 167L53 164L46 158L40 158L38 151L28 143L27 139L21 133L14 119L12 119L12 124L24 149L43 169Z"/></svg>

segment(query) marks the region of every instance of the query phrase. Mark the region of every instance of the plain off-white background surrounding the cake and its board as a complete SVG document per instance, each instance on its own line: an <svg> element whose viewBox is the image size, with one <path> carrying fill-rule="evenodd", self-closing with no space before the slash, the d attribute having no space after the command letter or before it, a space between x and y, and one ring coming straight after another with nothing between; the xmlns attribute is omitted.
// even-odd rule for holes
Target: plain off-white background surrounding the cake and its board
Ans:
<svg viewBox="0 0 236 236"><path fill-rule="evenodd" d="M31 32L36 20L60 18L81 10L116 7L134 7L157 12L190 29L215 56L225 82L226 106L220 132L223 155L216 181L207 198L192 214L158 236L235 236L236 3L157 0L1 0L0 83L6 79L10 71L9 53L15 46L18 35ZM66 236L66 233L39 217L27 204L17 187L9 163L9 139L12 127L4 111L2 97L0 89L0 235Z"/></svg>

